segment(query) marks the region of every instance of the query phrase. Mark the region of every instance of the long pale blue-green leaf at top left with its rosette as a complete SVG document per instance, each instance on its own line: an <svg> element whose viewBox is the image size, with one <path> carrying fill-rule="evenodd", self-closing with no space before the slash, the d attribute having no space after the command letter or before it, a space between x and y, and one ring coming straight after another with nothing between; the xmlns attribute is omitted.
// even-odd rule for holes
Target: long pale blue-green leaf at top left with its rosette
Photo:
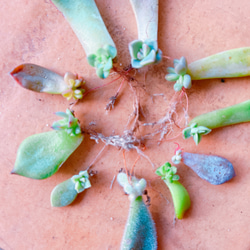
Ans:
<svg viewBox="0 0 250 250"><path fill-rule="evenodd" d="M81 42L88 63L100 78L108 77L117 55L115 44L94 0L52 0Z"/></svg>

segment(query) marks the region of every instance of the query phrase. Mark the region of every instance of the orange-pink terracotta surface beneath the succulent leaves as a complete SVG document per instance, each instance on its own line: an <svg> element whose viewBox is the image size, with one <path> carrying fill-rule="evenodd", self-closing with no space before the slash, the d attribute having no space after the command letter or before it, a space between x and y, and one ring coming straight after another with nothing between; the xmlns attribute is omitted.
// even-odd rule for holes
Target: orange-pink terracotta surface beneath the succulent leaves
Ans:
<svg viewBox="0 0 250 250"><path fill-rule="evenodd" d="M172 59L186 56L189 62L233 48L250 46L250 2L248 0L159 1L159 47ZM129 64L128 42L136 39L135 18L129 1L96 1L104 22L118 48L119 64ZM29 62L55 70L79 73L91 89L109 82L95 76L86 55L63 16L49 0L2 1L1 90L0 90L0 248L12 249L119 249L127 220L129 201L113 177L124 167L122 151L106 147L93 170L92 188L65 208L50 206L50 192L60 182L86 169L102 149L86 134L84 142L51 178L37 181L11 175L16 152L28 136L50 131L69 103L62 96L33 93L18 86L8 75L15 66ZM138 94L145 118L154 122L166 112L174 94L173 84L164 80L171 61L133 74L139 80ZM190 119L203 112L233 105L250 98L250 77L196 81L189 90ZM133 92L125 83L115 109L104 110L115 94L120 80L89 94L74 106L85 131L106 136L122 135L133 112ZM155 96L156 94L164 94ZM182 114L180 114L181 116ZM91 125L95 124L95 125ZM137 135L152 128L140 127ZM174 129L176 129L174 127ZM147 130L147 131L146 131ZM187 152L213 153L230 160L236 177L213 186L199 179L180 164L178 173L187 188L192 207L185 218L174 222L174 209L164 183L155 179L154 169L141 157L136 164L137 177L148 181L149 207L156 223L159 249L250 249L250 124L217 129L203 138L198 147L181 136L157 145L157 138L146 141L144 153L156 167L169 161L175 144ZM178 134L180 130L175 130ZM173 135L174 135L173 134ZM171 136L169 136L169 139ZM137 153L126 152L130 168Z"/></svg>

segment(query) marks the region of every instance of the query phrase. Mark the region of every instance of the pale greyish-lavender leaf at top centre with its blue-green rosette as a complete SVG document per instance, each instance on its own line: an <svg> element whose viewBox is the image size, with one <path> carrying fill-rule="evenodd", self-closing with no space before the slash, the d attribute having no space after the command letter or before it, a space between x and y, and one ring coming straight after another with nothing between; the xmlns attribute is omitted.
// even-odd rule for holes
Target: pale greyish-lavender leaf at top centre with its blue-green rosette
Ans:
<svg viewBox="0 0 250 250"><path fill-rule="evenodd" d="M158 63L162 52L158 49L158 0L130 0L135 13L138 40L129 43L129 52L133 68L142 68Z"/></svg>

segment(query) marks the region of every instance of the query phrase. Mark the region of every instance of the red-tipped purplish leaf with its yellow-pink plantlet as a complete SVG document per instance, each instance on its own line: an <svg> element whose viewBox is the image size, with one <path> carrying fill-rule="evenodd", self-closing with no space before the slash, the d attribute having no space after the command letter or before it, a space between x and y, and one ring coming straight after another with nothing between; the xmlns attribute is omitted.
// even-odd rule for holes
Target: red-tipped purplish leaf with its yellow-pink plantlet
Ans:
<svg viewBox="0 0 250 250"><path fill-rule="evenodd" d="M82 78L67 72L64 77L36 64L25 63L15 67L10 75L23 88L49 94L62 94L67 100L81 99L85 83Z"/></svg>

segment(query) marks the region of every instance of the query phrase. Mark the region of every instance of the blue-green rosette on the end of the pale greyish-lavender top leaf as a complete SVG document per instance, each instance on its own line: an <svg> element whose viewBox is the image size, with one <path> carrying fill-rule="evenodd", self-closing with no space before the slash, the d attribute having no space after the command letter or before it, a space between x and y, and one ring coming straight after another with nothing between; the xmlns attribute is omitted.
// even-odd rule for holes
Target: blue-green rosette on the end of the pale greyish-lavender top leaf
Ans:
<svg viewBox="0 0 250 250"><path fill-rule="evenodd" d="M149 64L158 63L162 59L162 52L158 49L157 41L135 40L129 44L131 64L135 69Z"/></svg>

